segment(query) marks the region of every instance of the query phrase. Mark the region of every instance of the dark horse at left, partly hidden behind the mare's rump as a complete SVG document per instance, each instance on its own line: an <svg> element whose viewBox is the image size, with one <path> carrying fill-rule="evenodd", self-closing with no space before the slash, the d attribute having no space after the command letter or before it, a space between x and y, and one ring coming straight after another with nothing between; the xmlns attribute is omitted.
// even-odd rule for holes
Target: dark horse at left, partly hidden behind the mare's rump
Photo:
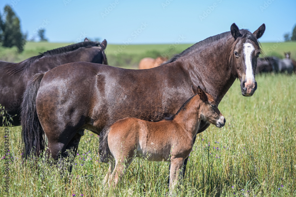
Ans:
<svg viewBox="0 0 296 197"><path fill-rule="evenodd" d="M0 61L0 104L5 107L9 116L13 117L12 125L20 125L22 94L33 74L44 73L70 62L107 64L104 53L106 46L106 40L99 43L85 39L84 42L46 51L20 63ZM1 125L2 118L0 118Z"/></svg>

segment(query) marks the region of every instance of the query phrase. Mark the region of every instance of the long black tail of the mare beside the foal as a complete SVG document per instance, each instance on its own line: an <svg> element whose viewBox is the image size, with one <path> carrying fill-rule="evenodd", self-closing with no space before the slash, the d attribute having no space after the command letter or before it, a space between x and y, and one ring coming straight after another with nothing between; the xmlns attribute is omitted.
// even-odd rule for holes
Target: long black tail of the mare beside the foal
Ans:
<svg viewBox="0 0 296 197"><path fill-rule="evenodd" d="M30 79L23 95L21 105L22 143L24 145L22 157L40 156L44 150L44 131L39 122L36 111L36 97L41 79L45 73L37 73Z"/></svg>

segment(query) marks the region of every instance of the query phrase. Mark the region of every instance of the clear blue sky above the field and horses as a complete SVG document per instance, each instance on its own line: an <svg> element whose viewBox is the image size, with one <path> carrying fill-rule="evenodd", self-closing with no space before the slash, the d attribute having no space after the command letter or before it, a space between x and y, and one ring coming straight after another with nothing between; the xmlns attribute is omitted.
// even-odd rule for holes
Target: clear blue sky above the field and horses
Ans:
<svg viewBox="0 0 296 197"><path fill-rule="evenodd" d="M45 28L50 42L89 37L110 44L164 44L183 36L183 43L196 43L229 31L232 23L252 32L265 23L260 41L276 42L296 25L295 0L1 0L1 14L6 4L20 17L23 32L37 37Z"/></svg>

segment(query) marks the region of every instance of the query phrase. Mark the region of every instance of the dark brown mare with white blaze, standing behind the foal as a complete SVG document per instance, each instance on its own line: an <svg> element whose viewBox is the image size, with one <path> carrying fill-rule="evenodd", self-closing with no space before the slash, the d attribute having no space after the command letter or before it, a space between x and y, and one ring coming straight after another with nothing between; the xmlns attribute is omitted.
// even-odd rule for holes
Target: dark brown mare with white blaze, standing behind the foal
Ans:
<svg viewBox="0 0 296 197"><path fill-rule="evenodd" d="M22 102L25 157L41 154L45 133L47 156L62 165L69 154L75 157L83 130L88 129L100 135L101 161L106 161L106 133L115 121L125 117L160 121L193 96L192 86L213 95L218 105L239 78L242 95L252 96L257 89L257 39L265 25L254 33L239 30L234 23L230 29L147 70L76 62L34 75ZM208 126L202 122L197 133Z"/></svg>

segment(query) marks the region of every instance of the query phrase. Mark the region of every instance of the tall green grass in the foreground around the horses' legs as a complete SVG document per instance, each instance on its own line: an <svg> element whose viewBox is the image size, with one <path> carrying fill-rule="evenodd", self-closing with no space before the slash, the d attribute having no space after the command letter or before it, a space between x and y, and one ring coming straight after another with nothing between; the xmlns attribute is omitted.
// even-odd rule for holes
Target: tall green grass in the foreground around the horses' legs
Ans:
<svg viewBox="0 0 296 197"><path fill-rule="evenodd" d="M178 196L295 196L296 76L257 76L258 89L243 97L236 81L219 105L226 118L197 135ZM116 189L102 185L108 164L100 163L98 136L85 131L72 174L40 158L21 159L20 127L9 128L9 196L165 196L168 163L135 159ZM4 129L0 132L4 156ZM10 149L12 150L12 149ZM10 154L12 154L10 152ZM4 177L4 160L0 159ZM6 195L0 180L0 196Z"/></svg>

